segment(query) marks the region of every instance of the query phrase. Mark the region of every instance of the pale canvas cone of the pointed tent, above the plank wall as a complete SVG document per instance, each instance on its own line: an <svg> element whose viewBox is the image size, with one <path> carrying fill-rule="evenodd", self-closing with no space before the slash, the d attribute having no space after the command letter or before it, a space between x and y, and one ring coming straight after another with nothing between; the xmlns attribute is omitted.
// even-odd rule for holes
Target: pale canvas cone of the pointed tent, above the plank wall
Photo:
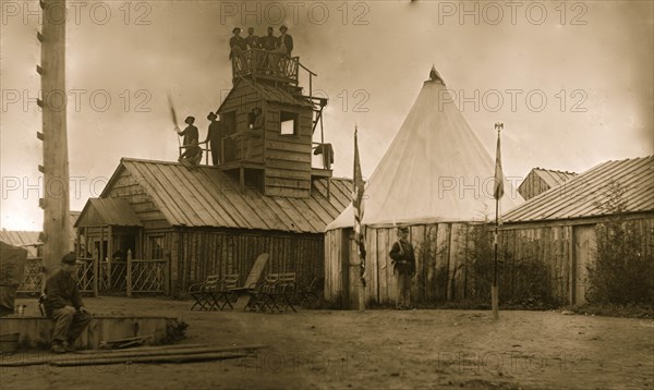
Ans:
<svg viewBox="0 0 654 390"><path fill-rule="evenodd" d="M424 83L366 185L363 224L493 220L494 173L494 157L436 76ZM522 198L505 180L500 210L520 203ZM350 205L326 230L352 227L353 221Z"/></svg>

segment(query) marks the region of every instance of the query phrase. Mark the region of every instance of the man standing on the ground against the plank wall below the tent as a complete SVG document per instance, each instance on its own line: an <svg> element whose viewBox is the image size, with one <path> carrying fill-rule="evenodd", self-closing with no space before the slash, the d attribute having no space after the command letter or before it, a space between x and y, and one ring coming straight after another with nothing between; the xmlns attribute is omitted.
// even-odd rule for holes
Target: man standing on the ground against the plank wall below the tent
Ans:
<svg viewBox="0 0 654 390"><path fill-rule="evenodd" d="M398 282L398 309L410 308L411 278L415 275L415 254L409 242L409 228L398 229L398 241L390 249L390 258Z"/></svg>

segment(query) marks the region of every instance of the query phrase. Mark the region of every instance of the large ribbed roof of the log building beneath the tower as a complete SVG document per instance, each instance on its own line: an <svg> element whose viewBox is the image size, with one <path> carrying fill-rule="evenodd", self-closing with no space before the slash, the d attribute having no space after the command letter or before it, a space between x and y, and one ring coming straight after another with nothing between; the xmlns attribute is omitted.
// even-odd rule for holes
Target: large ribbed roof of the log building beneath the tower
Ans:
<svg viewBox="0 0 654 390"><path fill-rule="evenodd" d="M145 188L171 226L222 227L322 233L350 203L351 180L315 180L310 198L265 196L239 183L219 168L189 170L177 162L123 158L105 187L106 198L122 170ZM86 207L85 207L86 208Z"/></svg>

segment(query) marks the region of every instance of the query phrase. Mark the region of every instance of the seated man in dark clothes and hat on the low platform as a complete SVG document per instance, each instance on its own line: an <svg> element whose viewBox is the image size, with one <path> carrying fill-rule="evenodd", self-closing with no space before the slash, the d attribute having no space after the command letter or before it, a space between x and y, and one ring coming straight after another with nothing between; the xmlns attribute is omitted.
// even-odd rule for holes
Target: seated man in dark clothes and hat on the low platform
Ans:
<svg viewBox="0 0 654 390"><path fill-rule="evenodd" d="M73 351L75 340L90 322L90 314L82 303L77 280L73 277L76 270L75 254L69 253L61 258L61 269L46 282L44 306L46 315L55 319L55 353Z"/></svg>

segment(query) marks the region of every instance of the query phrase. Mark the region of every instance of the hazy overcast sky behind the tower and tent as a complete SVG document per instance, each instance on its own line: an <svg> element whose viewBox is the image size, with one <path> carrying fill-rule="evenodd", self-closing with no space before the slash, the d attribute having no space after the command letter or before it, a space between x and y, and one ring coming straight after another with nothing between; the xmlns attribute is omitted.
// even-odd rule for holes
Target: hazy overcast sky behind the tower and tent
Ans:
<svg viewBox="0 0 654 390"><path fill-rule="evenodd" d="M99 195L121 157L177 159L167 94L179 115L195 115L206 135L207 113L231 87L234 26L259 35L269 25L276 35L279 25L289 26L293 54L318 74L314 89L329 98L325 141L335 146L337 176L352 175L355 123L363 173L372 174L432 64L491 155L493 125L504 122L508 176L533 167L583 172L653 154L651 1L461 4L69 2L68 134L77 187L71 209ZM1 7L0 223L38 231L38 2L2 0Z"/></svg>

